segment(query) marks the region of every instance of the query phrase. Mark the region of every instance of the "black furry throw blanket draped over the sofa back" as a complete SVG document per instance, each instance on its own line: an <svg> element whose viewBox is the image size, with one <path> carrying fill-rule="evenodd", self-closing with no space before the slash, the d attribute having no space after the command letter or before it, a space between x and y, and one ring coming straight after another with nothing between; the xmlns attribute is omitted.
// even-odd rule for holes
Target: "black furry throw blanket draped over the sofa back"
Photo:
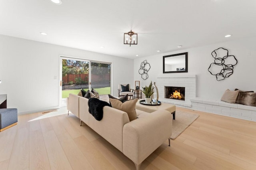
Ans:
<svg viewBox="0 0 256 170"><path fill-rule="evenodd" d="M97 120L100 121L103 117L103 107L110 106L108 102L101 101L97 98L91 97L88 100L89 113Z"/></svg>

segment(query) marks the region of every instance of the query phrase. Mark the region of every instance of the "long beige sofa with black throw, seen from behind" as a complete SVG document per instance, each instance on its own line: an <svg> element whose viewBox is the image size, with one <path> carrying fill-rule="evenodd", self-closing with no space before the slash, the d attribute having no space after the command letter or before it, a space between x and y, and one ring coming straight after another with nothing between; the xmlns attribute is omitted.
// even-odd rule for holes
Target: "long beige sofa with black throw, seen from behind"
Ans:
<svg viewBox="0 0 256 170"><path fill-rule="evenodd" d="M97 121L88 111L88 99L73 94L67 98L67 109L132 160L136 170L172 135L172 116L165 110L137 110L138 119L130 122L126 112L105 106Z"/></svg>

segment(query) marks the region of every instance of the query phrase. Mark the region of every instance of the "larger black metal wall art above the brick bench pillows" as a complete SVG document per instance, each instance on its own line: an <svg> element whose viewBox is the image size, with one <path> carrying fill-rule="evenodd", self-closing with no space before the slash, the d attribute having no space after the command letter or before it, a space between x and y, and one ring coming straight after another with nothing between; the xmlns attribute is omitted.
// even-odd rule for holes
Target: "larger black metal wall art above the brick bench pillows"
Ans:
<svg viewBox="0 0 256 170"><path fill-rule="evenodd" d="M212 51L214 63L210 64L208 71L216 76L217 81L224 80L233 74L237 59L234 55L228 55L228 50L222 47Z"/></svg>

